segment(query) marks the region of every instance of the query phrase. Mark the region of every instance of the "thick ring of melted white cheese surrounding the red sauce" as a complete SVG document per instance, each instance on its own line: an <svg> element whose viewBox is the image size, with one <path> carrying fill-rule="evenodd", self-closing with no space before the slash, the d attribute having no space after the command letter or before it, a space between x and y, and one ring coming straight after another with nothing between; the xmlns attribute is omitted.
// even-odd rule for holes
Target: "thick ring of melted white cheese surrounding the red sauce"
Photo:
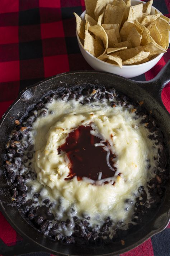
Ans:
<svg viewBox="0 0 170 256"><path fill-rule="evenodd" d="M141 118L135 120L135 113L122 106L112 108L104 101L81 105L75 100L56 100L48 110L53 114L39 117L33 123L37 182L47 188L53 202L62 198L63 211L72 207L77 216L86 212L94 223L106 216L115 221L130 221L133 205L125 210L125 200L135 201L138 187L145 186L152 176L152 168L147 169L148 162L154 166L157 155L157 148L147 138L147 129L140 124ZM105 185L100 181L99 185L93 185L86 178L65 180L69 162L64 152L58 154L57 151L70 132L89 124L117 155L117 171L112 182ZM89 157L93 161L93 156Z"/></svg>

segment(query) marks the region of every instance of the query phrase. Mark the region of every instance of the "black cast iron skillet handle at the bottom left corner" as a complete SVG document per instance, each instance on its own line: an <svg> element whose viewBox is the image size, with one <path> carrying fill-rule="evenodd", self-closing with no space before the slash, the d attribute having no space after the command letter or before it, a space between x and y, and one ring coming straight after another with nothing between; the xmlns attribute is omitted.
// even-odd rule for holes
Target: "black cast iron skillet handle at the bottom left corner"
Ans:
<svg viewBox="0 0 170 256"><path fill-rule="evenodd" d="M32 252L40 252L38 246L30 244L23 240L20 244L14 246L7 246L3 240L0 239L0 254L3 256L25 255Z"/></svg>

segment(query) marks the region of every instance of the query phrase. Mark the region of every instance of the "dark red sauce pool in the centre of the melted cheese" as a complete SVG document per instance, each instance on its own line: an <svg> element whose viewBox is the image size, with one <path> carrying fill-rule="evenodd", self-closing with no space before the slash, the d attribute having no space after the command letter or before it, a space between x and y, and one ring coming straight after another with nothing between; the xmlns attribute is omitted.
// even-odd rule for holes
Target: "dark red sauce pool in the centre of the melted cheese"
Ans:
<svg viewBox="0 0 170 256"><path fill-rule="evenodd" d="M100 143L101 139L90 134L90 126L81 125L74 132L69 133L65 144L60 146L59 151L65 151L70 160L70 175L66 179L71 179L77 175L81 180L83 176L93 180L98 180L98 173L102 172L101 178L114 176L106 160L107 151L102 146L95 147L95 143ZM107 142L105 142L107 145ZM115 157L110 152L109 163L113 166L112 159Z"/></svg>

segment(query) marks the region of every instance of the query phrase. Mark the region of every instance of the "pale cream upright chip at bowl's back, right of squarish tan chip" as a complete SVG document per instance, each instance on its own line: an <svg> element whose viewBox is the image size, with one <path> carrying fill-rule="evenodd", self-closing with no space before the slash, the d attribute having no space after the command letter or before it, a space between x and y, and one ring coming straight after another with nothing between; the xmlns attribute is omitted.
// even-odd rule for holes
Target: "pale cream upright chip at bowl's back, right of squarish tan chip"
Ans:
<svg viewBox="0 0 170 256"><path fill-rule="evenodd" d="M134 23L134 20L136 19L138 22L141 22L142 16L143 16L143 4L137 4L134 6L131 6L129 9L129 16L127 21Z"/></svg>

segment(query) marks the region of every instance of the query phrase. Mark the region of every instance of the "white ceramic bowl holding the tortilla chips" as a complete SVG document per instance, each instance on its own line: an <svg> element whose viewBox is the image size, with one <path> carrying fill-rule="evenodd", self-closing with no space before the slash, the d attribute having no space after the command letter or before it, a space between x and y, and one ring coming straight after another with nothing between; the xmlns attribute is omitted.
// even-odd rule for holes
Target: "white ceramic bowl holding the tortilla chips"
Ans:
<svg viewBox="0 0 170 256"><path fill-rule="evenodd" d="M131 0L131 5L137 5L139 3L142 3L142 1L140 1L140 0ZM157 10L157 9L154 6L152 6L151 7L151 14L155 14L155 10ZM159 12L159 10L157 10L157 11ZM81 19L83 19L83 20L84 20L84 17L85 17L85 13L86 13L86 11L84 11L80 16ZM77 35L77 41L78 41L78 44L79 44L80 51L81 51L83 57L85 58L85 60L89 63L89 65L91 67L93 67L93 69L99 70L99 71L110 72L110 73L113 73L113 74L124 76L126 78L132 78L134 76L138 76L138 75L141 75L141 74L147 72L152 67L154 67L156 65L156 63L164 55L164 53L161 53L158 56L156 56L154 59L151 59L148 62L138 64L138 65L130 65L130 66L123 65L122 69L121 69L119 66L101 61L100 59L94 57L91 53L86 51L83 48L83 45L82 45L82 43L80 41L80 38L79 38L79 35L77 34L77 30L76 30L76 35Z"/></svg>

